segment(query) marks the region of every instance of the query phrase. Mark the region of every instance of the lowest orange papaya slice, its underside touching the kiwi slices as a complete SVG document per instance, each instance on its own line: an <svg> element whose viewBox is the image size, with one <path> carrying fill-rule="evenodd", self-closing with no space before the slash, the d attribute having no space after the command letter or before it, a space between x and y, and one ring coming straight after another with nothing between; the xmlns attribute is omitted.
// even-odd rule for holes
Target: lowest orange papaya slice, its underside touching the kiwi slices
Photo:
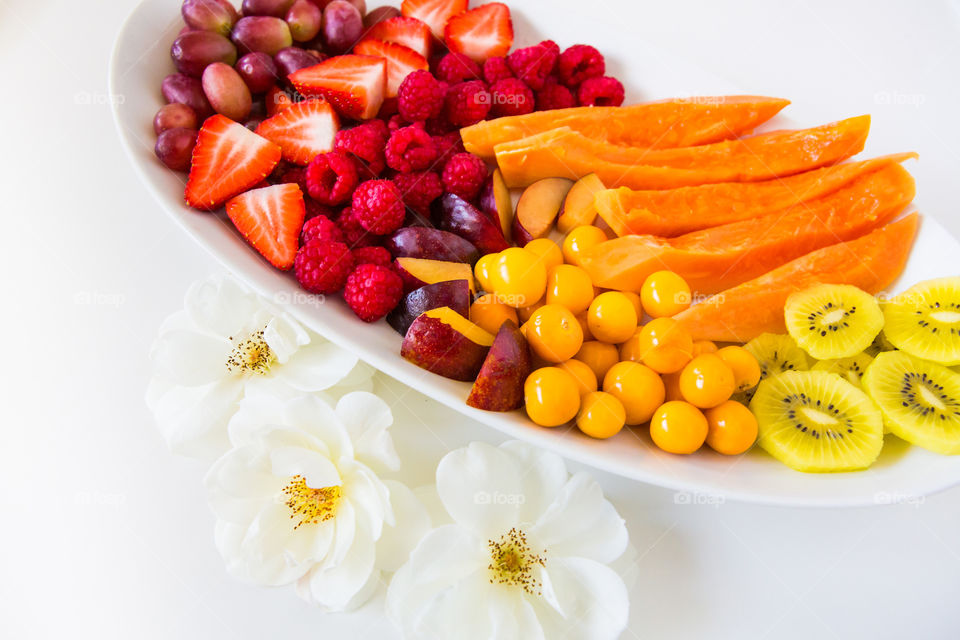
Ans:
<svg viewBox="0 0 960 640"><path fill-rule="evenodd" d="M674 316L696 340L747 342L762 333L786 333L783 306L794 291L814 284L852 284L879 293L903 271L920 216L797 258Z"/></svg>

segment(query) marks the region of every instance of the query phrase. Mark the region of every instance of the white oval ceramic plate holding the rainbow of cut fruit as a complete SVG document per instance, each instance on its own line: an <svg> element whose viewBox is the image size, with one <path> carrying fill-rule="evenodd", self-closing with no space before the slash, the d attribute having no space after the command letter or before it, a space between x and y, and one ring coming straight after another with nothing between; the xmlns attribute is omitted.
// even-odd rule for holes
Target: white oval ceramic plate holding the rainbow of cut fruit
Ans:
<svg viewBox="0 0 960 640"><path fill-rule="evenodd" d="M623 79L628 88L628 102L749 93L632 41L627 30L600 33L600 23L570 20L570 12L577 6L573 0L560 0L549 13L537 12L537 24L542 29L537 32L528 20L534 13L534 3L512 0L510 4L521 46L537 42L545 34L560 43L585 39L602 43L610 72ZM687 492L678 494L680 501L723 498L778 505L871 505L909 500L960 483L960 456L939 456L893 437L888 437L880 459L868 471L808 475L788 469L759 450L734 458L706 450L693 456L673 456L653 447L639 429L626 429L611 440L598 441L580 435L575 428L535 427L519 412L499 414L468 407L464 400L469 385L430 374L403 360L399 355L400 336L386 323L366 325L338 299L318 302L304 295L289 274L271 268L247 246L223 216L197 212L183 203L185 178L167 170L154 157L152 128L153 115L162 104L160 81L174 71L169 47L181 26L178 7L176 0L146 0L130 15L117 37L110 89L119 98L113 105L123 145L147 190L177 224L233 273L285 305L318 333L466 418L605 471ZM525 11L525 7L531 9ZM591 33L591 27L598 32ZM624 65L626 61L629 67ZM852 114L838 117L844 115ZM783 117L776 121L777 126L813 124L819 123L790 122ZM892 289L950 274L952 266L945 257L958 253L960 245L934 220L925 218L907 270Z"/></svg>

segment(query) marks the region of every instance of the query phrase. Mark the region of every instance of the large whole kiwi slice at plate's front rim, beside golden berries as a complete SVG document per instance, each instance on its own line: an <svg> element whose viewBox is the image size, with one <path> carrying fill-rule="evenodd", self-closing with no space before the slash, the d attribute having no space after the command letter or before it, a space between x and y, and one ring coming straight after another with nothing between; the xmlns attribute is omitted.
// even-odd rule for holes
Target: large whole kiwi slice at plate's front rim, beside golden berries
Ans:
<svg viewBox="0 0 960 640"><path fill-rule="evenodd" d="M854 471L883 448L883 416L863 391L835 373L787 371L760 383L750 401L757 443L791 469Z"/></svg>

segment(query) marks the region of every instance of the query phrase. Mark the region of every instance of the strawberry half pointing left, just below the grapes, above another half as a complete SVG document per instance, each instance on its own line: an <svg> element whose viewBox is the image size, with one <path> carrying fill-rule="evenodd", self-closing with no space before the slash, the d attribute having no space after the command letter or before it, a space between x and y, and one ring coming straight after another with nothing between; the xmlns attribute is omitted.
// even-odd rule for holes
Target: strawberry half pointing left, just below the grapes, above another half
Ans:
<svg viewBox="0 0 960 640"><path fill-rule="evenodd" d="M334 56L294 71L288 78L304 97L326 98L342 115L369 120L383 102L387 62L373 56Z"/></svg>

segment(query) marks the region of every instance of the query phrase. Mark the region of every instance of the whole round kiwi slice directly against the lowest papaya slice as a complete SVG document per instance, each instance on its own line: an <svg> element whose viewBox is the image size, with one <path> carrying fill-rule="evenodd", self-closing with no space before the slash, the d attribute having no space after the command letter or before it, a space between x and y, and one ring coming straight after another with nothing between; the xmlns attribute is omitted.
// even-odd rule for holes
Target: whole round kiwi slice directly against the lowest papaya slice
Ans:
<svg viewBox="0 0 960 640"><path fill-rule="evenodd" d="M877 299L849 284L818 284L792 293L783 311L787 332L819 360L862 353L883 328Z"/></svg>

